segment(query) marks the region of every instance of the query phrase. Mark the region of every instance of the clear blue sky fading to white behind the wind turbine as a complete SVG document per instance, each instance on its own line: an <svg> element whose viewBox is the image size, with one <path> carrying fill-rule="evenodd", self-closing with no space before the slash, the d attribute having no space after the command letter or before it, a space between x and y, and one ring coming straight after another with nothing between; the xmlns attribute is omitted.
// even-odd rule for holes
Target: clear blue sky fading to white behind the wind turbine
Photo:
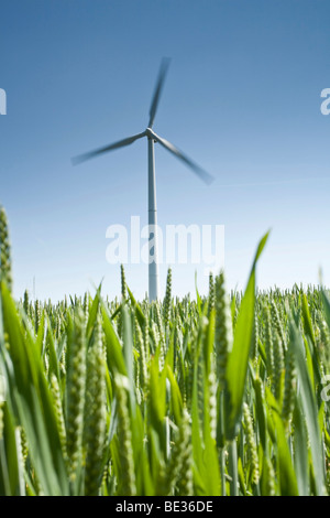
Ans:
<svg viewBox="0 0 330 518"><path fill-rule="evenodd" d="M0 203L14 292L119 293L109 225L146 223L146 140L73 166L143 131L162 56L172 57L154 129L216 177L202 184L156 145L158 224L226 227L230 288L254 249L261 288L330 280L330 3L327 0L2 0ZM174 293L206 292L204 265L174 266ZM164 292L166 266L161 268ZM127 266L143 296L147 267Z"/></svg>

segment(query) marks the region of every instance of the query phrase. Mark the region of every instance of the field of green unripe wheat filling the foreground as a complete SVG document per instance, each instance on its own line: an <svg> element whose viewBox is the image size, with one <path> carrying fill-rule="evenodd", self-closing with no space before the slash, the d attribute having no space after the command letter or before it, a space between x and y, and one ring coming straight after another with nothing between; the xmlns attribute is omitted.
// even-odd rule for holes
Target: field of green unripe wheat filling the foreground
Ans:
<svg viewBox="0 0 330 518"><path fill-rule="evenodd" d="M0 214L0 495L327 495L327 290L11 294Z"/></svg>

